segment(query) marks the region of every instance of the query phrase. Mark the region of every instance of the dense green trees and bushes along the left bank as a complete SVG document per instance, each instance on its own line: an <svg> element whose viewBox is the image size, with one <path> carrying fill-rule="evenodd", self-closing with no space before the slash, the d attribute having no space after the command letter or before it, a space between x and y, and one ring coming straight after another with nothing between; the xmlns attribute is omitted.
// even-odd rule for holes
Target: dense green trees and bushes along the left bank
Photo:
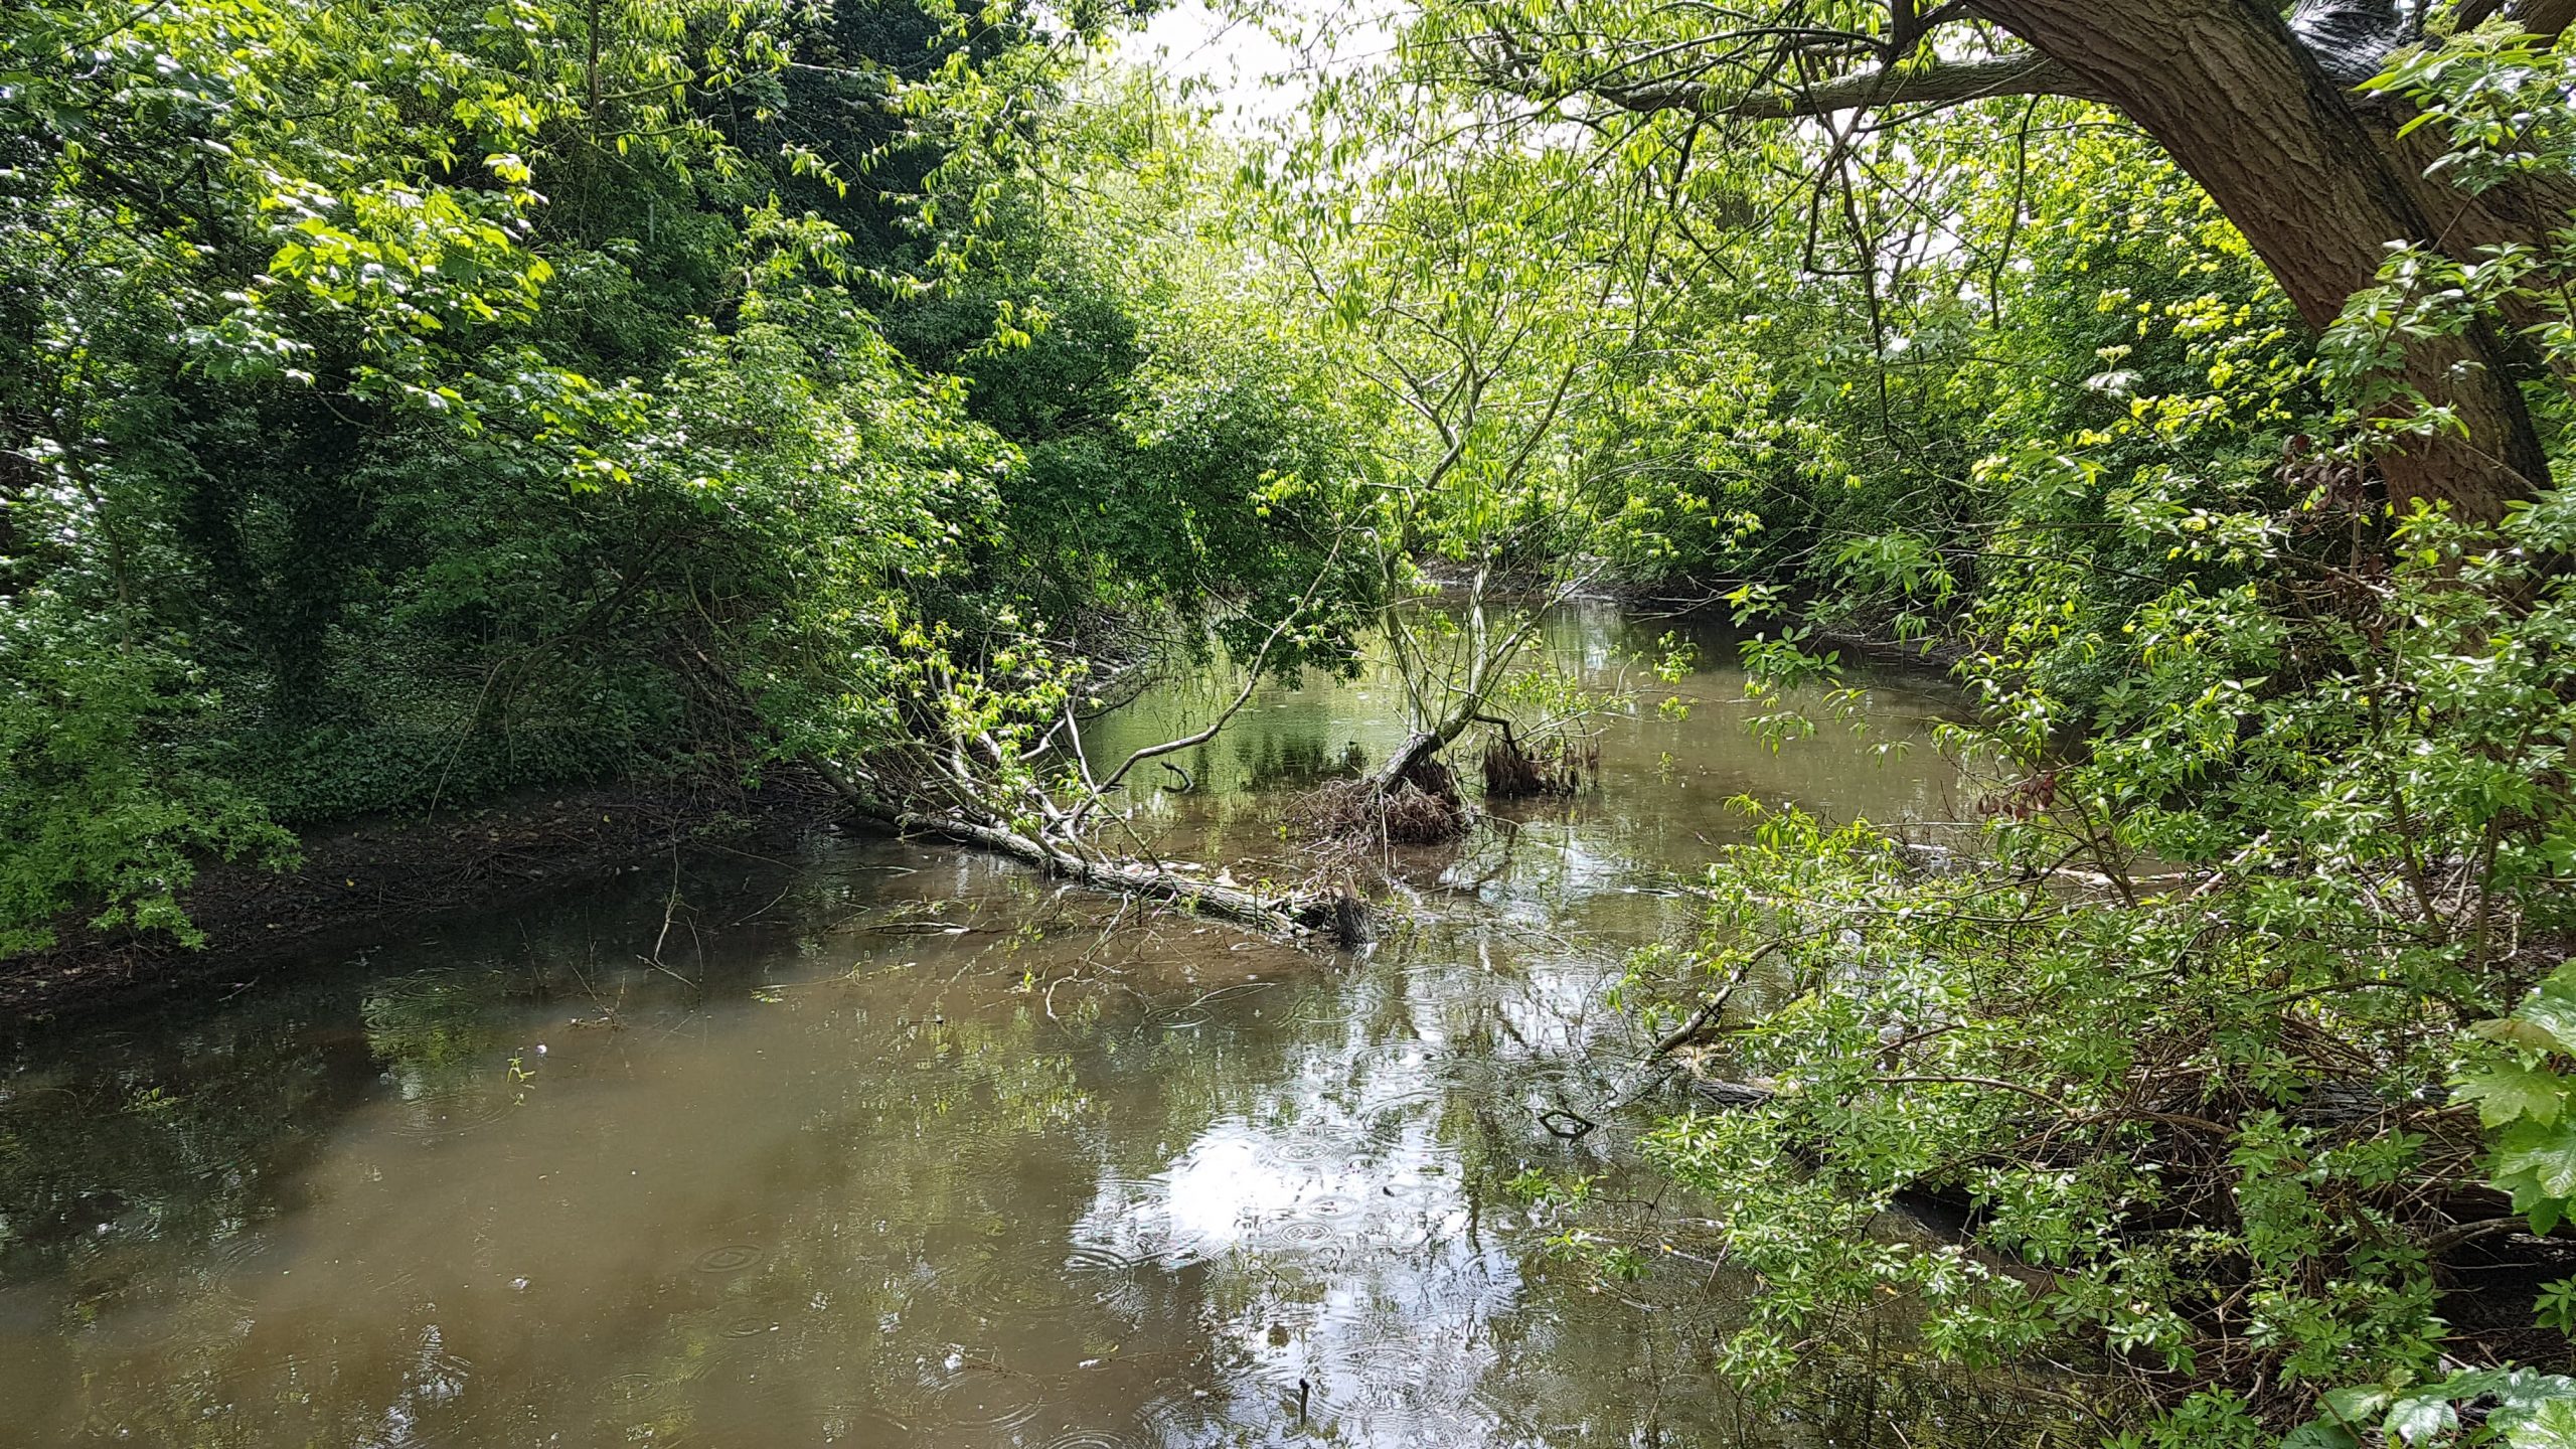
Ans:
<svg viewBox="0 0 2576 1449"><path fill-rule="evenodd" d="M899 3L13 8L0 951L1306 590L1316 371L1164 211L1195 119L1090 64Z"/></svg>

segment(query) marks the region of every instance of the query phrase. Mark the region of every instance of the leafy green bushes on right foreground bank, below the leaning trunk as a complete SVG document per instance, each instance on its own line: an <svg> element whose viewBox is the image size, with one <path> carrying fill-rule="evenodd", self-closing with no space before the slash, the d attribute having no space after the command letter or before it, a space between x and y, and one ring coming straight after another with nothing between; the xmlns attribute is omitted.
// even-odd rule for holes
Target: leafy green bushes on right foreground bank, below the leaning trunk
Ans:
<svg viewBox="0 0 2576 1449"><path fill-rule="evenodd" d="M2512 147L2566 134L2566 59L2473 62L2398 72L2452 165L2553 165ZM2092 480L2174 572L2045 639L2092 660L2081 701L2027 647L1963 665L1986 714L1953 745L2004 761L1971 869L1765 817L1700 941L1641 959L1656 1026L1726 995L1698 1067L1757 1088L1646 1142L1759 1276L1723 1343L1747 1385L1904 1302L1940 1361L2102 1374L2120 1392L2027 1392L2107 1444L2576 1444L2576 1379L2545 1372L2576 1284L2530 1297L2576 1261L2548 1238L2576 1199L2576 498L2535 480L2470 521L2367 467L2458 428L2406 384L2424 338L2504 327L2576 371L2566 276L2576 227L2393 250L2321 348L2336 443L2293 443L2275 498L2174 513ZM1906 1209L1963 1227L1891 1230ZM2452 1276L2470 1253L2514 1271Z"/></svg>

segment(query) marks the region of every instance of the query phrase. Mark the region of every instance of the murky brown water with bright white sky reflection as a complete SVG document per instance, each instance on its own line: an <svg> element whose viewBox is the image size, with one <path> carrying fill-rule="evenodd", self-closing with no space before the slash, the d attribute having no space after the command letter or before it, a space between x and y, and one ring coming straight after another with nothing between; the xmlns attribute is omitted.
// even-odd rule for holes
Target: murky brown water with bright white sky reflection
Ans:
<svg viewBox="0 0 2576 1449"><path fill-rule="evenodd" d="M1510 1186L1605 1173L1687 1250L1623 1163L1636 1111L1540 1122L1633 1075L1602 993L1687 923L1664 884L1741 838L1736 794L1960 812L1937 681L1868 676L1870 740L1775 755L1726 639L1646 678L1667 629L1553 621L1553 657L1643 683L1600 789L1409 861L1365 957L817 838L18 1042L0 1446L2007 1441L1973 1385L1870 1361L1749 1410L1708 1348L1752 1284L1605 1276ZM1283 792L1399 732L1383 676L1265 688L1136 825L1265 869Z"/></svg>

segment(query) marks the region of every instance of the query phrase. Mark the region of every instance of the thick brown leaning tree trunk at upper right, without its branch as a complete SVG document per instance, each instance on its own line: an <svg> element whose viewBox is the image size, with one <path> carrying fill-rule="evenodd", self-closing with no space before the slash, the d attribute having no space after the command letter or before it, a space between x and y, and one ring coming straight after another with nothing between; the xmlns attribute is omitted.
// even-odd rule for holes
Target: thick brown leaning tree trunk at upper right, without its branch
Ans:
<svg viewBox="0 0 2576 1449"><path fill-rule="evenodd" d="M2421 175L2421 152L2370 124L2267 0L1978 0L1984 15L2074 70L2143 126L2210 193L2300 315L2324 327L2372 286L2388 242L2465 255L2530 219L2478 206ZM2447 500L2494 521L2548 480L2540 433L2501 340L2416 343L2406 379L2458 413L2439 436L2383 459L2398 498Z"/></svg>

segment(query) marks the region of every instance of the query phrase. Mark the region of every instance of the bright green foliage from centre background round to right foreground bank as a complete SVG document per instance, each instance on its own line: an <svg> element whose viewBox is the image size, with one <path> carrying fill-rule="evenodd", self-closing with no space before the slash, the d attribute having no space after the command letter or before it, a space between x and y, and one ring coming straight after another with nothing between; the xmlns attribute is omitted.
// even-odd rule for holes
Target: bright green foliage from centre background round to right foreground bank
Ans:
<svg viewBox="0 0 2576 1449"><path fill-rule="evenodd" d="M1548 57L1515 26L1558 8L1419 5L1267 183L1412 413L1378 433L1412 557L1690 580L1765 629L1765 688L1837 676L1819 629L1919 639L1981 706L1973 841L1770 817L1633 975L1734 1083L1649 1147L1762 1276L1736 1379L1793 1392L1901 1297L1932 1359L2130 1390L2061 1400L2102 1441L2568 1441L2576 534L2545 477L2488 521L2383 474L2468 433L2416 366L2465 335L2512 338L2566 456L2566 49L2396 54L2372 88L2463 209L2561 211L2383 237L2316 333L2099 106L1582 106L1618 44L1687 52L1649 10ZM1883 1230L1906 1204L1965 1227Z"/></svg>

